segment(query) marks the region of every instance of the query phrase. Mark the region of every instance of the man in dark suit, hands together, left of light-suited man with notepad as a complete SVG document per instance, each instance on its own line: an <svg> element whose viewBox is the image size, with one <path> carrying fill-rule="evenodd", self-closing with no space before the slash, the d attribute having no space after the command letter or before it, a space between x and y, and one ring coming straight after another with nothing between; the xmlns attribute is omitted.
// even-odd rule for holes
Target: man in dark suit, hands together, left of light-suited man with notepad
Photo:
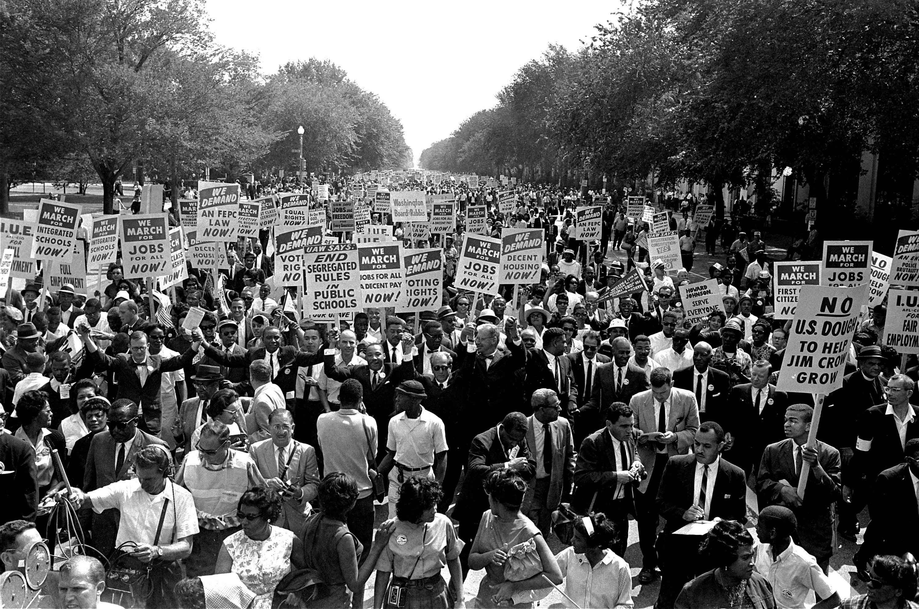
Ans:
<svg viewBox="0 0 919 609"><path fill-rule="evenodd" d="M635 413L629 405L613 402L603 414L606 427L584 438L578 451L572 506L578 513L602 511L616 524L618 539L612 550L621 557L629 541L629 514L635 513L635 483L641 480L643 466L632 433Z"/></svg>

